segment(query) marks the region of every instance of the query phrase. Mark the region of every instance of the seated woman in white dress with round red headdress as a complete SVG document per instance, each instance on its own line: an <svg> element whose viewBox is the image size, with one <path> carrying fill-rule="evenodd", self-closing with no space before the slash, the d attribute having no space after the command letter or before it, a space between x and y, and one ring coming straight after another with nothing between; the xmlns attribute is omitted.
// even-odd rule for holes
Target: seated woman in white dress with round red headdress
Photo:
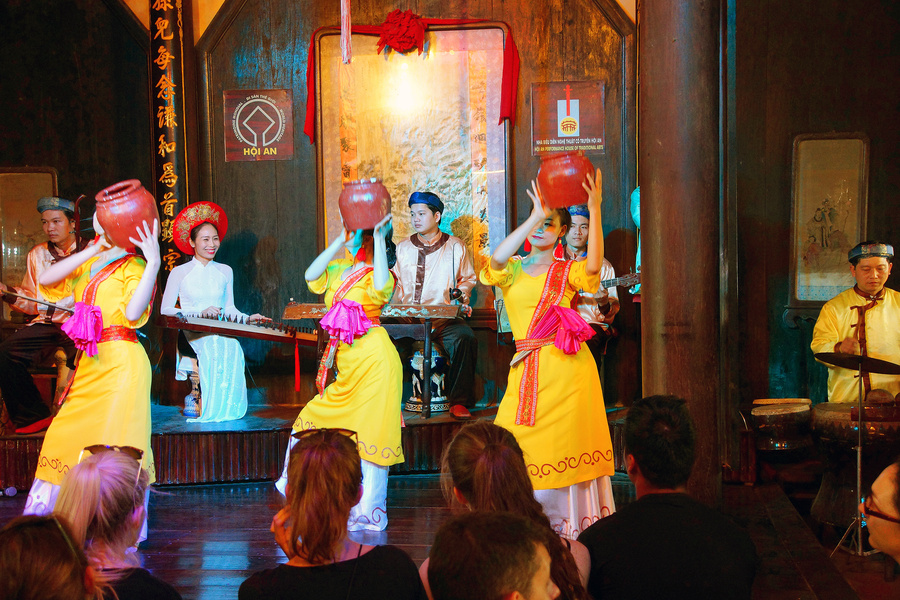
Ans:
<svg viewBox="0 0 900 600"><path fill-rule="evenodd" d="M178 213L172 228L175 245L194 259L169 273L160 307L162 314L180 313L209 319L228 317L249 322L269 320L259 314L246 315L234 306L234 273L228 265L213 260L227 230L225 211L212 202L195 202ZM175 306L176 302L180 308ZM179 354L175 378L184 381L188 373L198 371L202 393L200 416L188 422L231 421L243 417L247 412L247 382L240 343L221 335L183 333L197 358Z"/></svg>

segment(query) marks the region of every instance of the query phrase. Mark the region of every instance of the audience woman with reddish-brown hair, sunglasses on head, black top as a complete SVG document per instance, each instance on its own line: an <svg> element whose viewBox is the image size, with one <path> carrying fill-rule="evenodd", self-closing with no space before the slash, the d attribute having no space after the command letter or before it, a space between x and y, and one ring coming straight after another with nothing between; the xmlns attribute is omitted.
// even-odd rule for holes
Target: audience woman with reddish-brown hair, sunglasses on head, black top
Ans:
<svg viewBox="0 0 900 600"><path fill-rule="evenodd" d="M424 599L416 565L405 552L347 537L350 509L363 493L356 433L307 429L294 439L287 506L272 519L288 563L254 573L241 584L238 599Z"/></svg>

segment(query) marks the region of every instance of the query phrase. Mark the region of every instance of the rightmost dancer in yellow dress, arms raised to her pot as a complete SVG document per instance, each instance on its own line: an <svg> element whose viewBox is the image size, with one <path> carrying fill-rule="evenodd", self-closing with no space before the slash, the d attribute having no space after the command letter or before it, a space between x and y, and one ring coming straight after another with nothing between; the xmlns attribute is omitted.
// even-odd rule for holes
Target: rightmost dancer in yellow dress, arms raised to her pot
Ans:
<svg viewBox="0 0 900 600"><path fill-rule="evenodd" d="M600 376L581 343L592 331L570 308L578 290L598 288L603 262L600 170L582 185L591 215L586 260L554 258L569 213L547 209L532 182L531 215L497 246L481 272L482 283L502 290L516 339L495 423L516 436L535 497L554 529L572 539L615 510L609 480L615 470L612 441ZM528 256L514 256L526 239Z"/></svg>

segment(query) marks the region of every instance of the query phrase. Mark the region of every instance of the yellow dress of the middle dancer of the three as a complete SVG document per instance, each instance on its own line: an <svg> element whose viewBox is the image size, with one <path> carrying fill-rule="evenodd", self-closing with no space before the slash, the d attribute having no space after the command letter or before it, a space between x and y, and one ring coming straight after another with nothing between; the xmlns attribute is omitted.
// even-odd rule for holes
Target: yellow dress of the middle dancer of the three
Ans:
<svg viewBox="0 0 900 600"><path fill-rule="evenodd" d="M353 265L350 260L335 260L325 273L309 282L309 289L325 294L331 308L334 293L342 283L341 274ZM394 279L388 276L383 289L376 289L374 272L365 275L344 296L362 305L370 319L381 315L394 291ZM337 377L322 394L300 411L294 431L340 427L357 433L359 454L363 460L381 466L403 462L400 444L400 405L403 393L403 367L394 344L383 327L373 327L352 345L340 343L334 360Z"/></svg>

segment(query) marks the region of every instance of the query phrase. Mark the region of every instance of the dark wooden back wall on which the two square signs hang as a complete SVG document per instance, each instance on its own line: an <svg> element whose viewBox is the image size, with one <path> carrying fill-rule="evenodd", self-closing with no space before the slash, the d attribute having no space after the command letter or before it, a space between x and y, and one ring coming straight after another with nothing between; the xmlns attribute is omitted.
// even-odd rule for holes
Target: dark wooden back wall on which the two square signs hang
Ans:
<svg viewBox="0 0 900 600"><path fill-rule="evenodd" d="M530 149L531 83L607 80L608 150L595 164L604 171L607 254L618 272L632 269L636 240L627 202L636 185L634 36L633 25L621 8L611 0L361 0L352 4L352 19L356 24L379 24L394 9L410 9L426 17L483 18L510 24L521 56L518 120L511 135L515 191L509 198L518 221L527 216L525 190L540 164ZM245 312L278 315L290 298L312 300L303 271L319 248L318 195L315 149L302 133L306 60L312 32L338 25L339 10L338 2L231 0L198 44L204 139L201 165L205 165L201 196L228 211L229 234L221 259L235 268L237 304ZM225 163L222 91L267 88L293 90L293 160ZM517 203L517 197L526 202ZM260 271L265 271L265 276L256 274ZM608 380L617 383L615 389L607 390L607 397L630 402L639 394L639 332L630 296L621 295L627 306L617 326L623 336L618 350L607 360ZM267 374L284 368L283 361L280 366L267 362L263 344L245 344L245 349L251 368L255 363ZM620 369L628 376L617 377ZM267 389L268 401L306 401L305 394L293 392L290 373L284 375L277 378L283 384L273 382ZM505 387L505 381L494 383Z"/></svg>

